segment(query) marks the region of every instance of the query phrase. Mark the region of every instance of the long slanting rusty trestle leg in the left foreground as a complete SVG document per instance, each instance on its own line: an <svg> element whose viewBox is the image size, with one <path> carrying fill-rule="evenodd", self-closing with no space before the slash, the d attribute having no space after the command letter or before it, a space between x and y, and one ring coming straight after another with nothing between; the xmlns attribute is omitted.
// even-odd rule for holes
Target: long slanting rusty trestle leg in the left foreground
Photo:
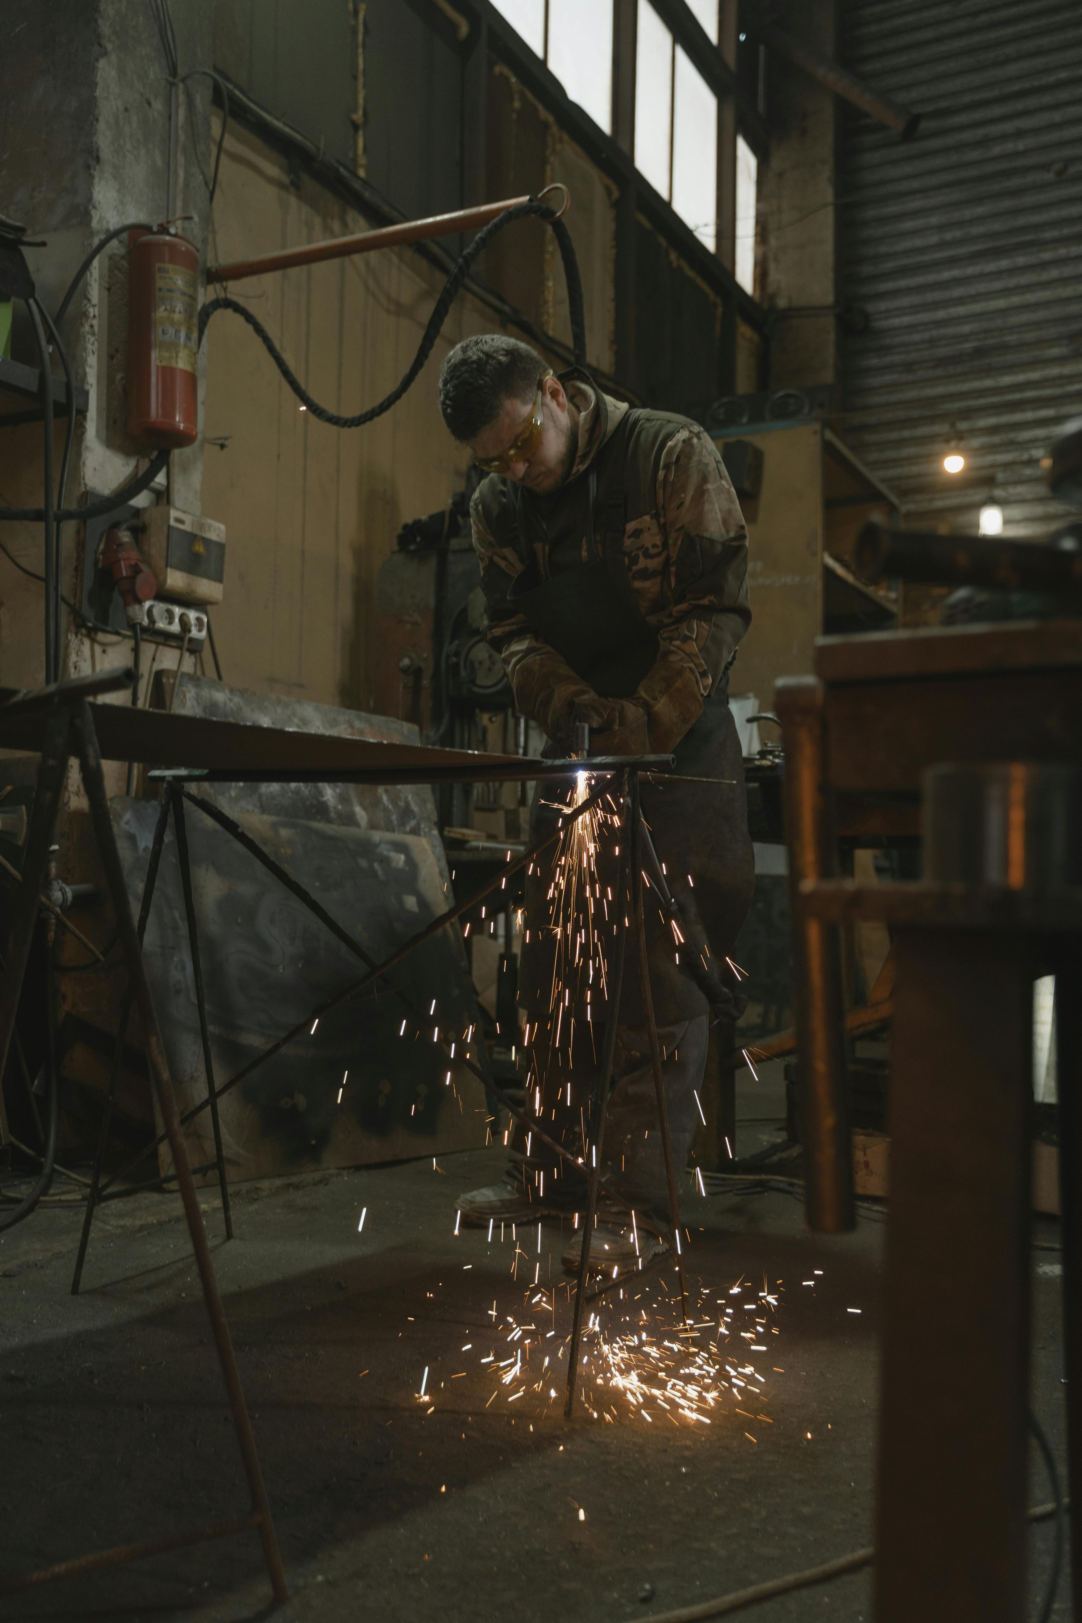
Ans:
<svg viewBox="0 0 1082 1623"><path fill-rule="evenodd" d="M143 953L140 949L140 940L135 930L135 920L131 917L131 904L128 901L123 868L120 865L120 852L117 850L117 841L112 831L112 820L109 815L109 795L105 792L105 779L102 774L102 758L97 748L97 737L94 734L94 717L91 716L89 704L86 703L79 706L76 729L78 729L79 764L83 768L83 786L86 789L86 797L91 807L91 818L94 823L94 833L97 836L99 855L102 860L102 867L105 870L105 881L112 893L112 902L117 912L117 927L120 930L120 940L123 943L125 958L128 959L128 974L131 975L135 1006L140 1013L140 1021L143 1026L146 1057L154 1081L154 1089L157 1092L159 1109L165 1121L165 1134L169 1138L169 1147L172 1151L174 1167L177 1170L177 1183L180 1186L180 1198L183 1201L185 1217L188 1222L188 1233L191 1235L191 1250L195 1251L195 1261L200 1271L203 1298L206 1302L206 1311L211 1321L211 1332L214 1336L214 1342L217 1347L217 1358L222 1368L222 1380L225 1383L229 1409L237 1431L240 1457L243 1461L245 1475L248 1479L248 1492L251 1495L251 1511L253 1516L258 1518L260 1537L263 1540L263 1558L266 1561L266 1569L271 1579L274 1597L277 1600L286 1600L289 1597L289 1587L286 1584L286 1569L282 1566L282 1556L277 1548L277 1537L274 1534L271 1506L268 1503L266 1488L263 1485L263 1472L260 1470L260 1456L256 1454L255 1436L251 1435L251 1420L248 1419L248 1407L245 1404L245 1394L240 1384L240 1373L237 1370L237 1358L234 1355L234 1345L229 1336L225 1310L222 1307L222 1297L217 1289L217 1279L214 1276L214 1263L211 1259L211 1248L208 1245L206 1230L203 1227L203 1214L200 1211L200 1201L191 1178L191 1167L188 1164L188 1149L185 1144L183 1130L180 1126L180 1115L177 1110L174 1084L169 1074L169 1065L165 1061L165 1048L157 1026L157 1011L154 1008L154 998L151 993L149 980L146 979Z"/></svg>

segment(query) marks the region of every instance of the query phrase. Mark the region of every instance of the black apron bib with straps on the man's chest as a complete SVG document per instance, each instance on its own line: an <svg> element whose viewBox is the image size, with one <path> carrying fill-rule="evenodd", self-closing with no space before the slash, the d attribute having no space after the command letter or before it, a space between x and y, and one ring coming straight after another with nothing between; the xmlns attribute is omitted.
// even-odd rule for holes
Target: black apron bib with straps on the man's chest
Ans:
<svg viewBox="0 0 1082 1623"><path fill-rule="evenodd" d="M516 547L526 568L508 591L508 604L530 631L560 654L576 675L603 698L631 698L657 661L657 631L639 610L623 555L626 518L623 463L628 430L638 412L625 414L586 472L586 553L576 568L548 573L548 537L543 563L529 544L530 524L545 527L545 516L521 485L513 487ZM602 511L603 557L597 550L599 463L605 489ZM527 506L529 503L529 506Z"/></svg>

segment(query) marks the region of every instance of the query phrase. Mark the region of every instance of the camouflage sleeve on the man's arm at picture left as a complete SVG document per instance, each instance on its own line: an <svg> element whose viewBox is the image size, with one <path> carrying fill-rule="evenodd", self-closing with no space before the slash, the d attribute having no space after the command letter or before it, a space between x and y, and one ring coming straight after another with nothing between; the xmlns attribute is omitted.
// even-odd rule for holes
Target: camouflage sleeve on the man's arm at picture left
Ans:
<svg viewBox="0 0 1082 1623"><path fill-rule="evenodd" d="M522 573L522 558L514 547L496 542L477 497L470 503L470 524L485 594L485 636L503 661L521 714L543 727L548 738L568 747L576 721L595 730L615 727L621 706L599 698L508 602L511 583Z"/></svg>

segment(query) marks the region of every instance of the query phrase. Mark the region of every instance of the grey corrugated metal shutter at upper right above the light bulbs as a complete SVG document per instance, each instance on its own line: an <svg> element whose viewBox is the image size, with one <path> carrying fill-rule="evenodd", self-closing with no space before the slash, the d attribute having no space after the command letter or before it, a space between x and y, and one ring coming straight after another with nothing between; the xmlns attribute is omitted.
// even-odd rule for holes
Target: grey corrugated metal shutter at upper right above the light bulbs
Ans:
<svg viewBox="0 0 1082 1623"><path fill-rule="evenodd" d="M923 114L908 143L842 117L845 438L910 521L975 527L993 500L1046 536L1038 461L1082 412L1082 5L844 0L840 55Z"/></svg>

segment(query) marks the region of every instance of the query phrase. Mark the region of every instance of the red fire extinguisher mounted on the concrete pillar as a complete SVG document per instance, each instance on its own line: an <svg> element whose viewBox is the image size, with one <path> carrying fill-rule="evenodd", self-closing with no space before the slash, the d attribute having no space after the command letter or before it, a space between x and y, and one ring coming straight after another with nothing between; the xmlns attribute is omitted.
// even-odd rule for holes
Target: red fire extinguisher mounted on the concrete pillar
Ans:
<svg viewBox="0 0 1082 1623"><path fill-rule="evenodd" d="M162 229L128 232L128 435L195 445L200 252Z"/></svg>

